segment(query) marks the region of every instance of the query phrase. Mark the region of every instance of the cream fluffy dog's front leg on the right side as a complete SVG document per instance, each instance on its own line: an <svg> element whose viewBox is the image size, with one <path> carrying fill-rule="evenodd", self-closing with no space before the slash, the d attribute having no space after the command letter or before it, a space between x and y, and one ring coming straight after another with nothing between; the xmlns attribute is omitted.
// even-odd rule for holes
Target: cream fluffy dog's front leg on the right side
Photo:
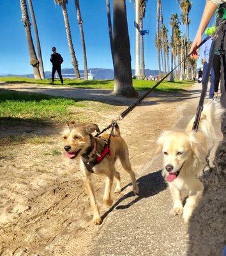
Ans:
<svg viewBox="0 0 226 256"><path fill-rule="evenodd" d="M192 191L190 191L183 211L183 219L185 223L188 223L190 217L192 216L193 209L195 209L196 205L198 204L202 196L203 189L204 186L201 182L199 182L199 185L197 185L196 188L193 188Z"/></svg>

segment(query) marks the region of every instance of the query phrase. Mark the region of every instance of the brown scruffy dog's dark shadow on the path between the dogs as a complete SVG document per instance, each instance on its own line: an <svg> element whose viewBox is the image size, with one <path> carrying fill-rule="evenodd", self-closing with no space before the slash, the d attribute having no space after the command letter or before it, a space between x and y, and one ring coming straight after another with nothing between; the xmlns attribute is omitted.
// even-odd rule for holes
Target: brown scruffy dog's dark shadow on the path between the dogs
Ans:
<svg viewBox="0 0 226 256"><path fill-rule="evenodd" d="M112 207L110 207L109 211L107 211L107 212L105 212L105 214L103 214L102 220L104 220L107 217L107 215L110 212L112 212L114 209L117 209L117 210L128 209L130 206L139 202L143 198L149 198L150 196L154 196L167 188L165 180L162 177L162 170L160 170L158 172L154 172L154 173L149 173L147 175L140 177L137 180L137 184L138 184L139 190L140 190L139 196L136 196L131 202L129 202L126 205L119 205L124 200L126 200L130 197L134 197L133 191L127 193L126 195L121 197L119 200L117 200L117 202L114 205L112 205ZM130 183L130 184L127 184L126 186L124 186L122 191L131 185L132 184Z"/></svg>

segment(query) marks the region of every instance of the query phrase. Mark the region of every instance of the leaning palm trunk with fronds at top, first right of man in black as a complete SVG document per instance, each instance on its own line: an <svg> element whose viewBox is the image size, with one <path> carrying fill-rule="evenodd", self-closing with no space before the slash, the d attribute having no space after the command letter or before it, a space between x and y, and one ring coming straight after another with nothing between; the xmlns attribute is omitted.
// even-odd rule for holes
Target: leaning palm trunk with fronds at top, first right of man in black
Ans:
<svg viewBox="0 0 226 256"><path fill-rule="evenodd" d="M54 1L55 1L55 3L59 4L62 8L63 17L64 17L64 26L66 29L66 36L68 38L68 46L69 46L69 50L70 50L70 54L71 54L71 58L72 58L72 65L75 70L75 77L77 79L80 79L79 65L78 65L77 58L75 56L75 50L74 50L73 42L72 42L72 34L71 34L70 24L69 24L69 20L68 20L68 11L66 9L66 4L68 3L68 0L54 0Z"/></svg>

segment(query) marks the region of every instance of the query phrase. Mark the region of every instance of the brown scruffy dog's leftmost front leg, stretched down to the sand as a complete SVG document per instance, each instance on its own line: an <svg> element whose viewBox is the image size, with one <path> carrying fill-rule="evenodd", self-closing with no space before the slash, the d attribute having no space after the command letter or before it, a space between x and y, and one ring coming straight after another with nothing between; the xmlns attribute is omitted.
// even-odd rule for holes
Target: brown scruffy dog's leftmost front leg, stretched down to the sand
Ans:
<svg viewBox="0 0 226 256"><path fill-rule="evenodd" d="M95 225L100 225L102 223L102 219L100 218L100 211L98 209L98 205L96 204L96 198L94 196L93 186L89 177L84 179L84 183L86 186L86 192L89 197L89 202L91 204L91 209L93 212L93 222Z"/></svg>

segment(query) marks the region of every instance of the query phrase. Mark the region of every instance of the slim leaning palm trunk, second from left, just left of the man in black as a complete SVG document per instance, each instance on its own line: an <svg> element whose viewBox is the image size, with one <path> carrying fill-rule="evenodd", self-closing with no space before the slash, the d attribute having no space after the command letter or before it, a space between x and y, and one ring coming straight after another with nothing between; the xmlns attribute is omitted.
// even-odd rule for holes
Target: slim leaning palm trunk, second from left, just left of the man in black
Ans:
<svg viewBox="0 0 226 256"><path fill-rule="evenodd" d="M28 2L28 5L29 5L29 10L30 10L30 13L31 13L31 19L32 19L33 26L34 26L34 35L35 35L35 38L36 38L36 45L37 45L37 51L38 51L38 61L39 61L40 75L41 75L41 79L45 79L43 61L42 61L42 57L41 57L41 45L40 45L40 40L39 40L39 36L38 36L38 28L37 28L35 15L34 15L33 4L32 4L32 0L27 0L27 2Z"/></svg>

